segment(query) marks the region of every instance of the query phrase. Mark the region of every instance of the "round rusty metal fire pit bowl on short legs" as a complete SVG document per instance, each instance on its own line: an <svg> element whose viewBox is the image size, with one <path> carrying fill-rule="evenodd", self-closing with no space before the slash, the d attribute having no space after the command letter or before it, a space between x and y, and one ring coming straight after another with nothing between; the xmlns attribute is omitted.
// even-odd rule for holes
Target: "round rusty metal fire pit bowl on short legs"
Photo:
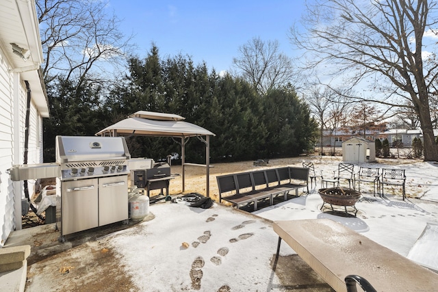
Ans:
<svg viewBox="0 0 438 292"><path fill-rule="evenodd" d="M335 209L333 209L333 205L341 206L344 207L346 214L348 214L348 212L352 212L356 216L357 209L355 204L361 197L361 193L359 193L359 191L356 191L355 189L349 189L347 187L330 187L327 189L319 189L318 193L324 201L320 209L321 211L324 208L324 205L327 203L330 204L332 211L335 211ZM347 207L352 208L347 209Z"/></svg>

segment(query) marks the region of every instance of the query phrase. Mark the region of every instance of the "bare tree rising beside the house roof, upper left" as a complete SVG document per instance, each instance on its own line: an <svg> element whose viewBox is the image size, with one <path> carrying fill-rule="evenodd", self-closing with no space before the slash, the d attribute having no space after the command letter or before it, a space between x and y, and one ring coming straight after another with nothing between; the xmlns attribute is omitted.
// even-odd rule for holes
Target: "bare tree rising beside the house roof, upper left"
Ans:
<svg viewBox="0 0 438 292"><path fill-rule="evenodd" d="M78 86L85 79L107 81L126 64L131 36L118 30L118 18L107 9L105 1L36 1L46 80L61 76Z"/></svg>

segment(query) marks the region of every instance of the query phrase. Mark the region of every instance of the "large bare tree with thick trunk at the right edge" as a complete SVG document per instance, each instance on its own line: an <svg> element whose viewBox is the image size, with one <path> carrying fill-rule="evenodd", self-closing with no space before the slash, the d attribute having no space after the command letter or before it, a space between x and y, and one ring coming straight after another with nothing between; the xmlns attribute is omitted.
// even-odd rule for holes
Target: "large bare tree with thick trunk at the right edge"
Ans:
<svg viewBox="0 0 438 292"><path fill-rule="evenodd" d="M352 85L367 79L376 94L365 101L391 107L405 105L395 97L411 101L424 135L424 160L438 161L429 107L438 62L433 53L423 58L426 32L435 35L435 1L315 0L307 8L305 31L290 31L298 48L315 53L307 65L331 64L338 75L348 72Z"/></svg>

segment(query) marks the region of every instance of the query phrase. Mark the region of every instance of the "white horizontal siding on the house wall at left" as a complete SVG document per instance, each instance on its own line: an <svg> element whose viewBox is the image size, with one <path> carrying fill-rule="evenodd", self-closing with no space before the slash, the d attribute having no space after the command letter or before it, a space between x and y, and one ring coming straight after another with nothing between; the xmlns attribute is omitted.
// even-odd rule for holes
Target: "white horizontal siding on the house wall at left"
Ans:
<svg viewBox="0 0 438 292"><path fill-rule="evenodd" d="M14 164L23 164L26 92L24 81L18 73L12 72L0 52L0 247L12 230L21 229L23 182L11 181L7 170ZM42 134L38 127L41 116L33 103L29 117L28 163L42 163L38 141ZM34 184L29 181L29 194L32 194Z"/></svg>

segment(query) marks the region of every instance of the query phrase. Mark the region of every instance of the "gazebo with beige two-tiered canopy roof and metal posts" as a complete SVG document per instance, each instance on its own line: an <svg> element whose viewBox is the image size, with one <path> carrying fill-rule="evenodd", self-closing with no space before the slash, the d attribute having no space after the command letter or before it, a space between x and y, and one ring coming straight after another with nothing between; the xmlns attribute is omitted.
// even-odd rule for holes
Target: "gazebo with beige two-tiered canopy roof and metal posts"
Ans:
<svg viewBox="0 0 438 292"><path fill-rule="evenodd" d="M101 136L127 136L143 135L153 137L172 137L181 139L181 166L182 166L182 191L185 190L185 166L195 165L203 166L206 169L206 192L209 196L209 168L210 165L210 136L216 136L214 133L199 127L190 122L184 122L185 118L175 114L156 113L153 111L137 111L131 114L125 120L120 120L110 127L96 133ZM185 162L185 143L190 137L197 137L198 140L205 144L205 164L186 163Z"/></svg>

